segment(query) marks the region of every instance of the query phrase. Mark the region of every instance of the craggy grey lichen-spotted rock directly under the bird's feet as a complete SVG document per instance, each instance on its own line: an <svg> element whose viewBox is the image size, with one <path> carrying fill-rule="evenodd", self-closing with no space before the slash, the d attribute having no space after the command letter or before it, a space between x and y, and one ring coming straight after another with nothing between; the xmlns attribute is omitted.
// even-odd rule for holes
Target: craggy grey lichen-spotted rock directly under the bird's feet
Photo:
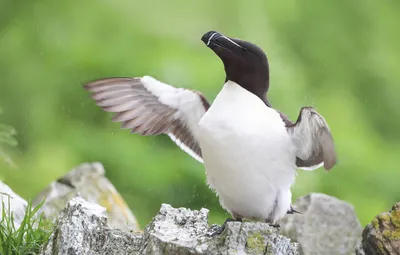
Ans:
<svg viewBox="0 0 400 255"><path fill-rule="evenodd" d="M298 254L297 244L260 222L228 222L220 235L208 227L208 210L163 204L144 234L141 254Z"/></svg>

